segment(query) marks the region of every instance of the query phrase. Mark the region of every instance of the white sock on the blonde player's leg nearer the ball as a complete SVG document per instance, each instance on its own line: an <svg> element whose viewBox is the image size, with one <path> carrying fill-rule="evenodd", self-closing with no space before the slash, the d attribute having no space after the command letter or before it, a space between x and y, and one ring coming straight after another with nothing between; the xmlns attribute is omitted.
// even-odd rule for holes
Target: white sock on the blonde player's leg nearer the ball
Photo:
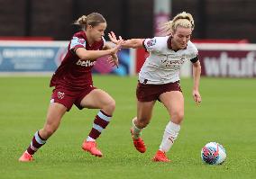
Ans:
<svg viewBox="0 0 256 179"><path fill-rule="evenodd" d="M168 152L169 148L172 147L174 140L178 138L178 131L180 130L180 125L169 121L163 133L163 137L160 144L160 150L163 152Z"/></svg>

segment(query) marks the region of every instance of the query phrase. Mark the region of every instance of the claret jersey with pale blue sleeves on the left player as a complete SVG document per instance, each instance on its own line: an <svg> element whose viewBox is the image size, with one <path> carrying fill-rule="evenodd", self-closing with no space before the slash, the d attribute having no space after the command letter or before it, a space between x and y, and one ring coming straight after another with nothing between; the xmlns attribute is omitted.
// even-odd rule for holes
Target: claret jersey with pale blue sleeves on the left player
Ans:
<svg viewBox="0 0 256 179"><path fill-rule="evenodd" d="M89 45L85 31L75 33L69 42L65 58L50 80L50 86L62 85L70 89L84 89L88 85L93 85L91 70L95 61L78 58L76 49L101 50L104 44L105 40L102 39Z"/></svg>

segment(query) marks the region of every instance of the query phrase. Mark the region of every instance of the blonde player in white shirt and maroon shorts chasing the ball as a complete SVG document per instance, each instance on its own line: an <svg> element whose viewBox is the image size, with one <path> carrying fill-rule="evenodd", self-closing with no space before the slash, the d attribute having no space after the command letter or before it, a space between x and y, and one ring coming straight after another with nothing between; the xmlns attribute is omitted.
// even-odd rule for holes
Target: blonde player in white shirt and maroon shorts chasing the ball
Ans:
<svg viewBox="0 0 256 179"><path fill-rule="evenodd" d="M160 148L153 161L169 162L166 153L178 137L180 124L184 116L184 98L179 85L179 70L183 63L190 60L193 64L193 98L201 102L199 80L201 66L198 51L190 41L194 30L194 20L190 13L179 13L172 21L162 26L167 36L153 39L131 39L123 41L123 48L145 48L150 52L139 73L137 85L137 116L133 119L131 129L134 147L141 153L146 147L141 138L141 131L151 121L154 104L159 100L169 112L170 121L166 125ZM110 40L118 44L114 32L108 34ZM119 40L122 37L119 36Z"/></svg>

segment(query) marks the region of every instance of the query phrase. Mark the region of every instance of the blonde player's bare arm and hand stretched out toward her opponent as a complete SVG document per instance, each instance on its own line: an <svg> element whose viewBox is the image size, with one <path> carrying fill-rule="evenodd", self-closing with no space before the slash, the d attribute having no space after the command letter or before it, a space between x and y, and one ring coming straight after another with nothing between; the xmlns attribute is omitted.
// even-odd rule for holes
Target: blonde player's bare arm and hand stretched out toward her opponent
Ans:
<svg viewBox="0 0 256 179"><path fill-rule="evenodd" d="M114 34L113 31L111 31L110 33L108 33L108 37L109 39L116 44L117 43L117 39L116 36ZM119 36L119 40L123 40L121 36ZM133 49L137 49L137 48L142 48L143 47L143 40L144 39L131 39L131 40L124 40L122 43L122 47L123 48L133 48Z"/></svg>

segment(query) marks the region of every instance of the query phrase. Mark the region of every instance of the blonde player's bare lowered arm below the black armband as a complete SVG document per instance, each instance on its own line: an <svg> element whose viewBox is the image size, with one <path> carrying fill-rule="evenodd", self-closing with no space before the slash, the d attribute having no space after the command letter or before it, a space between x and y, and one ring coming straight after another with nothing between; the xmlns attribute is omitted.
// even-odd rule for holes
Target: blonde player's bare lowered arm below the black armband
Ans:
<svg viewBox="0 0 256 179"><path fill-rule="evenodd" d="M202 101L201 95L199 93L200 75L201 75L201 65L200 65L200 61L197 60L196 63L193 63L194 85L193 85L193 92L192 92L194 101L197 104L201 103L201 101Z"/></svg>

